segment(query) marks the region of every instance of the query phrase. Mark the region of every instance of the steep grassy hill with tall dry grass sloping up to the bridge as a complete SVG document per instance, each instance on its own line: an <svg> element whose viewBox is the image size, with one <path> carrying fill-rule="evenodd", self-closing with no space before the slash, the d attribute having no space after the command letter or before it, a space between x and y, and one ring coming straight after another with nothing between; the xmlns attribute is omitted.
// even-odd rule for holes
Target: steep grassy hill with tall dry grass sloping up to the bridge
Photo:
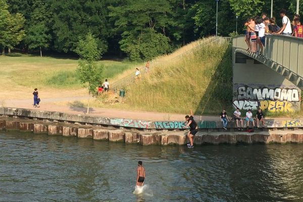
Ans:
<svg viewBox="0 0 303 202"><path fill-rule="evenodd" d="M197 42L194 42L197 43ZM188 51L193 44L177 52ZM174 55L165 56L174 58ZM190 51L173 62L154 67L129 86L126 102L117 108L166 113L216 114L231 108L232 61L227 43Z"/></svg>

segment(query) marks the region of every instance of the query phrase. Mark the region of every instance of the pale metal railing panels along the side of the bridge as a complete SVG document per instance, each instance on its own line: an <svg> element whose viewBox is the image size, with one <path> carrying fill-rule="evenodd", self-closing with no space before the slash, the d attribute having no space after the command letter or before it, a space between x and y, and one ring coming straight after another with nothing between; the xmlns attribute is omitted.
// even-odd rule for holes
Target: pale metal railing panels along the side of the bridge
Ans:
<svg viewBox="0 0 303 202"><path fill-rule="evenodd" d="M233 39L233 47L247 49L244 35ZM264 56L267 60L275 62L299 77L303 77L303 38L266 35Z"/></svg>

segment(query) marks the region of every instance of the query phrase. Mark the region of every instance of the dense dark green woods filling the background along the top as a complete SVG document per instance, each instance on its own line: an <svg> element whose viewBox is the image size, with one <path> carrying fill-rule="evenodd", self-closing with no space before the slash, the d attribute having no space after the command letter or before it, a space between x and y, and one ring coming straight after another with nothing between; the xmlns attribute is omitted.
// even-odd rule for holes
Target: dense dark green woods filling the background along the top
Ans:
<svg viewBox="0 0 303 202"><path fill-rule="evenodd" d="M221 0L218 34L243 31L247 17L270 15L271 1ZM295 0L275 0L279 10L295 13ZM303 1L300 3L303 8ZM302 11L302 9L301 9ZM302 15L303 13L301 13ZM24 21L25 19L25 21ZM14 29L9 34L8 28ZM7 31L5 31L7 30ZM94 35L98 49L131 60L148 60L216 32L214 0L0 0L0 48L76 53L79 37ZM26 36L25 36L26 34ZM13 37L9 37L13 36Z"/></svg>

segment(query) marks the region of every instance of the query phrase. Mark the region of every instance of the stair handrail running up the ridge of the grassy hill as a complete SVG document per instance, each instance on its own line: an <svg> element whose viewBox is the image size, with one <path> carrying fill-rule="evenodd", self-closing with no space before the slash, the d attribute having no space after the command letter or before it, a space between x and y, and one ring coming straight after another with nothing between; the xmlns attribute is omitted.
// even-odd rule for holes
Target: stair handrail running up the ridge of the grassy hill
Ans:
<svg viewBox="0 0 303 202"><path fill-rule="evenodd" d="M200 43L198 43L197 45L193 46L192 48L188 49L187 51L183 52L183 53L180 53L179 55L176 55L175 57L169 59L169 60L155 60L155 61L151 61L150 62L150 68L152 68L153 66L156 66L156 65L159 65L159 64L164 64L164 63L170 63L171 61L174 61L176 58L179 58L183 55L186 55L187 53L190 53L192 52L194 49L197 49L203 45L207 46L207 45L210 45L216 41L227 41L227 42L231 42L232 41L232 37L216 37L216 36L212 36L212 37L209 37L203 41L201 41ZM145 67L142 67L142 68L138 68L139 71L140 71L140 74L145 74ZM134 73L131 73L125 77L123 77L122 79L114 82L111 86L111 90L116 93L118 92L120 89L130 85L131 83L134 82Z"/></svg>

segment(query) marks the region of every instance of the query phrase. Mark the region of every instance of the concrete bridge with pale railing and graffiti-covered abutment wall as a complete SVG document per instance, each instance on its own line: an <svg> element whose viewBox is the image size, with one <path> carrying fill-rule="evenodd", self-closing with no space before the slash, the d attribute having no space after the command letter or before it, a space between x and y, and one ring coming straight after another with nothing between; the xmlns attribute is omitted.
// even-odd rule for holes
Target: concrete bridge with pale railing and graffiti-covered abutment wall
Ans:
<svg viewBox="0 0 303 202"><path fill-rule="evenodd" d="M267 35L265 57L247 51L244 35L233 38L233 106L269 112L300 109L303 39Z"/></svg>

